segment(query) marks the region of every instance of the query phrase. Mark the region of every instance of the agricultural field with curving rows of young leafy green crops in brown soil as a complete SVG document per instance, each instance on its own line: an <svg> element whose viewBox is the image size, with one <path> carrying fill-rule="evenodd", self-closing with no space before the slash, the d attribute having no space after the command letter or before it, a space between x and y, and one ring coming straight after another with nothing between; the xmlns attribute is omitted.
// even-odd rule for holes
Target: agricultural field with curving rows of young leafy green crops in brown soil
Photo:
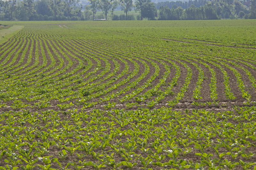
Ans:
<svg viewBox="0 0 256 170"><path fill-rule="evenodd" d="M256 169L256 20L1 24L0 169Z"/></svg>

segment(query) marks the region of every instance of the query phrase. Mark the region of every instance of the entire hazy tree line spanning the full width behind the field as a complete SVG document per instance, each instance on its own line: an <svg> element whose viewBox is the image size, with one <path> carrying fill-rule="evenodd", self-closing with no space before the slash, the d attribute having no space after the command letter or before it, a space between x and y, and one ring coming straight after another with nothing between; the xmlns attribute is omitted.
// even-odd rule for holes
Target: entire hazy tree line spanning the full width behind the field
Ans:
<svg viewBox="0 0 256 170"><path fill-rule="evenodd" d="M0 20L93 20L97 11L99 18L112 20L135 20L129 11L139 12L137 20L191 20L220 18L256 18L256 0L195 0L188 2L161 2L151 0L89 0L82 6L79 0L0 0ZM124 14L115 15L121 7ZM82 11L84 9L84 11Z"/></svg>

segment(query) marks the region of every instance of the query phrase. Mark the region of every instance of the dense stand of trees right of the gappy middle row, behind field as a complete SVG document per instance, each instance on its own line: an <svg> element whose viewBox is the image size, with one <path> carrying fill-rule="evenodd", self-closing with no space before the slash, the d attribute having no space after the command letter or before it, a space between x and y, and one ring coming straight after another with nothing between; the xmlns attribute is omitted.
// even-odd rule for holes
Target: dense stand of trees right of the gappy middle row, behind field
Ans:
<svg viewBox="0 0 256 170"><path fill-rule="evenodd" d="M159 9L158 19L161 20L256 19L255 6L256 0L166 1L156 4Z"/></svg>

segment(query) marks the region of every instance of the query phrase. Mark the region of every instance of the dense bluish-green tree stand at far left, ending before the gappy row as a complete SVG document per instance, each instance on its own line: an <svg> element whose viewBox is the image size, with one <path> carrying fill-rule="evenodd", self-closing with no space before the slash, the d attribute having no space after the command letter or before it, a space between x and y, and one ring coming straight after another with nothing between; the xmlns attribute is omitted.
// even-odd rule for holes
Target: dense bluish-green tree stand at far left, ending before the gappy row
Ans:
<svg viewBox="0 0 256 170"><path fill-rule="evenodd" d="M0 20L82 20L79 0L0 0Z"/></svg>

